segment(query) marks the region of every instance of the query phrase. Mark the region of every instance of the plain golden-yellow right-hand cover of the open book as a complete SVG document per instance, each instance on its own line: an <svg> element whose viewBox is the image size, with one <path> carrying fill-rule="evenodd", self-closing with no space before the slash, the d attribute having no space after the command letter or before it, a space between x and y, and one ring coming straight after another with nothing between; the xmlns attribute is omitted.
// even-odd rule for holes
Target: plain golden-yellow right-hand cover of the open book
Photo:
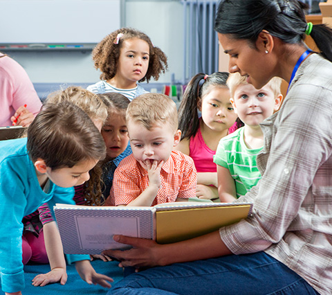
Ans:
<svg viewBox="0 0 332 295"><path fill-rule="evenodd" d="M250 205L189 208L156 212L156 241L167 244L216 231L246 218Z"/></svg>

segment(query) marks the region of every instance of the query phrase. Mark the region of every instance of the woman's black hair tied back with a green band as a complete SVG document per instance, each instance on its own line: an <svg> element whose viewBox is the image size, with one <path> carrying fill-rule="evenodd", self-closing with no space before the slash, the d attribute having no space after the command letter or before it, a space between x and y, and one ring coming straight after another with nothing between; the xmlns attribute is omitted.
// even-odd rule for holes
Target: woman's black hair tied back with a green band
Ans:
<svg viewBox="0 0 332 295"><path fill-rule="evenodd" d="M214 29L235 39L248 39L252 46L261 30L285 43L297 44L306 36L307 7L297 0L221 0ZM322 55L332 61L332 29L325 24L313 25L310 35Z"/></svg>

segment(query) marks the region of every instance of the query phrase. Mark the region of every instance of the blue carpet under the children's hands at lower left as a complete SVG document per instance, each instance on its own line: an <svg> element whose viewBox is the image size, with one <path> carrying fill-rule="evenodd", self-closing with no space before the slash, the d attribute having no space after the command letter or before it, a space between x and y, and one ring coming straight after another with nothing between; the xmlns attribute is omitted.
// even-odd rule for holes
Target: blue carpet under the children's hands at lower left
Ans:
<svg viewBox="0 0 332 295"><path fill-rule="evenodd" d="M99 274L105 274L113 278L114 283L118 282L123 277L123 271L118 267L118 262L103 262L101 260L95 260L91 262L95 271ZM49 265L26 265L24 267L24 276L26 278L26 288L23 290L24 295L84 295L84 294L107 294L107 288L101 287L99 285L88 285L80 278L75 269L75 265L67 265L68 280L65 285L60 285L59 283L46 285L44 287L34 287L31 285L31 280L37 276L37 274L46 274L50 271ZM0 295L5 293L1 291Z"/></svg>

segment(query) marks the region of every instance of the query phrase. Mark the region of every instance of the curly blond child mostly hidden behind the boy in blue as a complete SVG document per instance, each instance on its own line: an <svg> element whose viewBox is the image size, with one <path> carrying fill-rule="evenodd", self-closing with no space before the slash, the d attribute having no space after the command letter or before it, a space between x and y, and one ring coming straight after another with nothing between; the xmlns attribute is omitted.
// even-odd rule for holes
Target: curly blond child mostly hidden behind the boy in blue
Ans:
<svg viewBox="0 0 332 295"><path fill-rule="evenodd" d="M58 105L61 102L72 102L80 107L100 129L107 118L107 106L104 105L97 95L82 87L68 87L64 90L50 93L45 104ZM89 171L89 177L84 184L75 186L73 200L77 205L100 205L102 204L102 193L100 178L102 170L97 164ZM39 274L33 278L33 285L44 286L48 283L66 283L66 263L61 247L61 240L57 230L57 225L48 204L43 204L33 214L24 217L23 235L23 260L24 264L28 260L51 265L51 271L47 274ZM52 239L50 239L52 237ZM55 238L54 238L55 237ZM44 242L45 240L45 242ZM51 241L51 242L50 242ZM29 255L30 254L30 255ZM89 260L89 256L67 256L69 263L81 260ZM58 261L58 262L57 262ZM56 269L52 266L58 265ZM61 267L59 267L61 265Z"/></svg>

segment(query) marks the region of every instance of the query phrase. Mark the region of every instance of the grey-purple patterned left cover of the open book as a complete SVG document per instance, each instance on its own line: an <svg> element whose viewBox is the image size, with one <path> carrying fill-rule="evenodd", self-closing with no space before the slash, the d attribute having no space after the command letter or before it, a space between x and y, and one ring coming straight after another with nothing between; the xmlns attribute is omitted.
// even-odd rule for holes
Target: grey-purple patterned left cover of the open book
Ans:
<svg viewBox="0 0 332 295"><path fill-rule="evenodd" d="M107 207L56 204L57 226L66 254L100 254L128 249L113 235L155 239L153 207Z"/></svg>

